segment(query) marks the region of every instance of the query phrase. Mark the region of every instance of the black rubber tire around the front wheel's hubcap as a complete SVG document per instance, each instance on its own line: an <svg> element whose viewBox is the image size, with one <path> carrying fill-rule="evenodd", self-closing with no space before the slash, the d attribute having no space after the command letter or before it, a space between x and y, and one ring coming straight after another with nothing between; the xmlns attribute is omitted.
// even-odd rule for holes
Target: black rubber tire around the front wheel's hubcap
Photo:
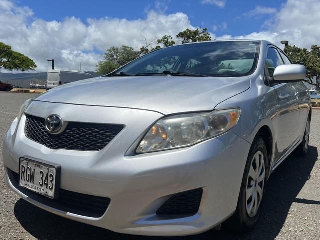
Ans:
<svg viewBox="0 0 320 240"><path fill-rule="evenodd" d="M259 203L257 204L256 213L254 215L249 216L249 214L248 214L249 210L247 210L247 204L248 204L248 202L250 202L250 199L251 199L251 204L253 204L254 201L253 201L252 197L249 198L248 200L246 200L246 192L247 192L247 187L249 187L249 185L250 185L249 180L250 180L250 182L252 182L252 179L249 176L249 171L250 171L250 168L254 166L253 165L253 161L254 161L253 157L255 156L256 153L257 154L261 153L261 155L263 155L263 159L261 161L263 161L263 164L264 164L264 177L263 177L263 174L261 174L258 176L258 179L260 178L260 176L261 176L261 179L262 178L264 178L264 179L263 179L263 187L261 187L262 188L262 197L260 197L260 201L257 200ZM258 156L258 158L260 159L260 155ZM223 227L225 227L226 229L231 230L231 231L236 231L236 232L247 232L247 231L251 230L254 227L254 225L257 223L259 216L260 216L260 213L261 213L261 207L262 207L262 203L263 203L263 195L265 193L266 181L268 178L267 159L268 159L268 154L267 154L265 143L260 136L256 136L253 140L253 143L251 145L251 148L250 148L250 151L248 154L248 158L246 160L246 165L244 168L244 174L243 174L243 178L242 178L242 183L241 183L241 188L240 188L240 193L239 193L238 204L237 204L236 210L235 210L234 214L228 220L226 220L226 222L223 223ZM251 187L256 187L257 181L255 181L254 184ZM258 185L259 184L260 183L258 183ZM258 199L259 193L256 192L256 194L257 194L257 199ZM254 208L254 204L253 204L253 208Z"/></svg>

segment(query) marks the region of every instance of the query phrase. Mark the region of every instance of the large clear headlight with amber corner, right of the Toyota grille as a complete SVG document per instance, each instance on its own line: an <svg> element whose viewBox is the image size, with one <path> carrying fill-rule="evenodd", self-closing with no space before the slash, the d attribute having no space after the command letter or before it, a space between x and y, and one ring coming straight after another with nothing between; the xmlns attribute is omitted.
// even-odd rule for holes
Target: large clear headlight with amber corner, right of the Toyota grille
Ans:
<svg viewBox="0 0 320 240"><path fill-rule="evenodd" d="M240 108L169 116L146 133L137 153L189 146L230 130L238 121Z"/></svg>

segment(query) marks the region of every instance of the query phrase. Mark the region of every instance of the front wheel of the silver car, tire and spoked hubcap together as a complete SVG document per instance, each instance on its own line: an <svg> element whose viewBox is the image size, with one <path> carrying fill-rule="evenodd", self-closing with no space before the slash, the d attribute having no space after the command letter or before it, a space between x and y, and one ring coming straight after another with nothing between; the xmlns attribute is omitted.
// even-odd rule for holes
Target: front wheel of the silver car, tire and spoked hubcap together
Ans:
<svg viewBox="0 0 320 240"><path fill-rule="evenodd" d="M245 165L237 208L225 222L228 229L246 232L257 223L267 180L267 157L265 143L257 136Z"/></svg>

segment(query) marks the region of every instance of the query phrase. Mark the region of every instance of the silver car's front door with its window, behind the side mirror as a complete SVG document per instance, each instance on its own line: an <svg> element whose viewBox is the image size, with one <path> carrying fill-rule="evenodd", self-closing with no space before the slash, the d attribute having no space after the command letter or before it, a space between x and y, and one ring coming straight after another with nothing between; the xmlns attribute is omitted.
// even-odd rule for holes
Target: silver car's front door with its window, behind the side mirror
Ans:
<svg viewBox="0 0 320 240"><path fill-rule="evenodd" d="M267 49L266 75L272 81L274 69L283 65L283 60L275 47ZM299 102L295 83L280 83L272 86L276 100L276 115L272 122L275 130L275 161L278 161L298 141Z"/></svg>

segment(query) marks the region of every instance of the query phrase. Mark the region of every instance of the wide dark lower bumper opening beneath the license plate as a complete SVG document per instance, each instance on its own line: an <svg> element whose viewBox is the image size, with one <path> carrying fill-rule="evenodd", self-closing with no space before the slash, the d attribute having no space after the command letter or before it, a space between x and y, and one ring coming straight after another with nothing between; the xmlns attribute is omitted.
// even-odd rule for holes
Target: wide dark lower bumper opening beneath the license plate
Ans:
<svg viewBox="0 0 320 240"><path fill-rule="evenodd" d="M59 189L59 197L51 199L19 186L19 174L8 169L10 181L20 192L46 206L82 216L101 217L110 203L110 198L86 195Z"/></svg>

